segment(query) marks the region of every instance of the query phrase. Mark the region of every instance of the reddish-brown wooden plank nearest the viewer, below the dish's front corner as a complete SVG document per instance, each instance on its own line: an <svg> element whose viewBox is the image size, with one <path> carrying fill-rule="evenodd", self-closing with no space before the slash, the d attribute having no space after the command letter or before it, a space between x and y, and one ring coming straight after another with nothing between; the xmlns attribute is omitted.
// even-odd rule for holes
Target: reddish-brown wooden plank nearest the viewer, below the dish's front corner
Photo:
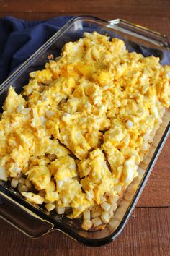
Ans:
<svg viewBox="0 0 170 256"><path fill-rule="evenodd" d="M32 240L0 220L0 248L3 256L169 256L170 208L136 208L122 234L103 247L84 247L54 231Z"/></svg>

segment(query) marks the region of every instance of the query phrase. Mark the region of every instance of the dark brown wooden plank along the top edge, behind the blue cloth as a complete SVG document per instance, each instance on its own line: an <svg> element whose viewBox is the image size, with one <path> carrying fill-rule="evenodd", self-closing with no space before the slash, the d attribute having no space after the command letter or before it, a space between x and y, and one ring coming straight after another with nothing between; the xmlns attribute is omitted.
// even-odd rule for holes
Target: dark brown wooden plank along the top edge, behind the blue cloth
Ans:
<svg viewBox="0 0 170 256"><path fill-rule="evenodd" d="M156 1L150 4L149 1L101 1L97 0L79 1L1 1L1 12L60 12L61 14L80 12L80 13L116 13L118 16L122 14L152 16L156 18L169 17L169 1ZM164 14L164 15L163 15Z"/></svg>

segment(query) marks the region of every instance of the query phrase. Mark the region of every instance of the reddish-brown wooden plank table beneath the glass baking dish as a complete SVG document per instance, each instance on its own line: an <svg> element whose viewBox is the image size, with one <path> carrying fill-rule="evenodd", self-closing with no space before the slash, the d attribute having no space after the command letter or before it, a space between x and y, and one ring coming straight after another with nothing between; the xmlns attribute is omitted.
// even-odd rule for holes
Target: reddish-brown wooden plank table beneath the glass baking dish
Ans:
<svg viewBox="0 0 170 256"><path fill-rule="evenodd" d="M92 14L107 20L120 17L165 33L170 40L169 11L169 0L0 0L0 17L12 15L24 20L45 20L68 14ZM0 255L170 255L169 145L170 138L133 216L115 242L99 248L84 247L59 232L32 240L0 220Z"/></svg>

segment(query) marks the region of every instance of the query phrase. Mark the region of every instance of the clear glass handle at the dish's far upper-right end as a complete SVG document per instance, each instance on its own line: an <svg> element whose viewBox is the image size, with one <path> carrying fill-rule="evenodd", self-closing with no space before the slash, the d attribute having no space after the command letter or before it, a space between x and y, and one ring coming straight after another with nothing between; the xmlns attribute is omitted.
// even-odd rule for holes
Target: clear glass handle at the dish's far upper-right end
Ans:
<svg viewBox="0 0 170 256"><path fill-rule="evenodd" d="M170 50L169 40L166 35L161 35L161 33L150 30L146 27L135 25L121 19L109 20L108 26L128 35L133 35L136 38L147 40L150 43L156 44L156 46L162 46L167 50Z"/></svg>

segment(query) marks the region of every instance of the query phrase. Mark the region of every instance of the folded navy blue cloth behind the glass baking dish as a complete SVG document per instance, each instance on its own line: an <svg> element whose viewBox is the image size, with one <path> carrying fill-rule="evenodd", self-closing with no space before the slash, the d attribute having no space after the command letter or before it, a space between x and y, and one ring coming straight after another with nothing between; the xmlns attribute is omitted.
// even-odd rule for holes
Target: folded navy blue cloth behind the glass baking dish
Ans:
<svg viewBox="0 0 170 256"><path fill-rule="evenodd" d="M28 22L14 17L1 18L0 84L70 19L71 16L66 16L46 21ZM90 26L88 31L91 32ZM114 33L112 34L115 36ZM170 64L169 51L146 48L128 40L126 40L126 46L129 51L136 51L144 56L158 56L161 64Z"/></svg>

